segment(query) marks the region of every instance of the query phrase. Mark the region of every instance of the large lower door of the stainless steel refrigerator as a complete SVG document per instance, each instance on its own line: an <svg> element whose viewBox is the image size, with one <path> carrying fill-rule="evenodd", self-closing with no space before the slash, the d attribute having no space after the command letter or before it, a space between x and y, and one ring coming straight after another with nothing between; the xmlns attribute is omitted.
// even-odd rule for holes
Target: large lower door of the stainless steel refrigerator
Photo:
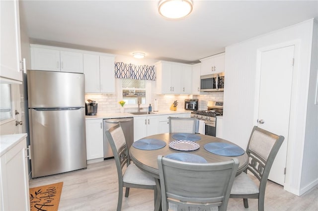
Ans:
<svg viewBox="0 0 318 211"><path fill-rule="evenodd" d="M32 178L86 168L85 108L29 109Z"/></svg>

